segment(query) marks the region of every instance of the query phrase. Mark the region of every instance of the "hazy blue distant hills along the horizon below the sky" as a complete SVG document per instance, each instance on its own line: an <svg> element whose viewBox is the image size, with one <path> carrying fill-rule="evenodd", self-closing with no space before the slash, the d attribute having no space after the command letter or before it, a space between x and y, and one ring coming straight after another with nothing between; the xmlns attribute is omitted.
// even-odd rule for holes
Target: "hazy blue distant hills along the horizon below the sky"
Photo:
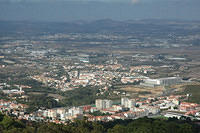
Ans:
<svg viewBox="0 0 200 133"><path fill-rule="evenodd" d="M29 22L0 21L0 34L6 33L155 33L155 32L199 32L198 21L175 20L127 20L114 21L103 19L97 21L71 22Z"/></svg>

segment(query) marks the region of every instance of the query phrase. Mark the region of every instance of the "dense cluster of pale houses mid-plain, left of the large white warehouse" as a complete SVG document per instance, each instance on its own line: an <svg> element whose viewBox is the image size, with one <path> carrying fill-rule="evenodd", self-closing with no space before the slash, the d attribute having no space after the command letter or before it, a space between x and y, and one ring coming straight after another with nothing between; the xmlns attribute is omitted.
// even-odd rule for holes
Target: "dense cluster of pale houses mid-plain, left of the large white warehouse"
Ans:
<svg viewBox="0 0 200 133"><path fill-rule="evenodd" d="M54 78L55 72L45 72L41 75L32 76L34 80L42 82L50 87L60 89L61 91L71 90L79 86L111 86L113 79L118 79L122 84L142 81L145 77L138 72L152 71L151 66L138 66L125 68L120 64L91 65L83 64L63 66L67 75L59 79ZM123 70L123 71L117 71Z"/></svg>

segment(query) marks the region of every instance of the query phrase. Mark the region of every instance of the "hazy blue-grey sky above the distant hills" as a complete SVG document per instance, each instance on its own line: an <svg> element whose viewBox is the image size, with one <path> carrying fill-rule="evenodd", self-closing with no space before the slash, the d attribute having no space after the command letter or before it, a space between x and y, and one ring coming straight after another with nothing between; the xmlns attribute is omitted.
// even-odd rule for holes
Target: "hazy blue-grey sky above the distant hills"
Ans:
<svg viewBox="0 0 200 133"><path fill-rule="evenodd" d="M0 0L0 20L200 20L200 0Z"/></svg>

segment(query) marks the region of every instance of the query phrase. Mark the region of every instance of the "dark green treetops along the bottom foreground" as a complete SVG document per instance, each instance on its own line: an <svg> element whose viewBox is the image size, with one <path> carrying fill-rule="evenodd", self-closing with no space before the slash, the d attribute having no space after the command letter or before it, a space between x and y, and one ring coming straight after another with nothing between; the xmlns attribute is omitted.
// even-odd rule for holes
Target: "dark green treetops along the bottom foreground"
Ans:
<svg viewBox="0 0 200 133"><path fill-rule="evenodd" d="M15 120L0 114L0 133L198 133L200 127L197 123L190 119L144 117L112 122L89 122L84 119L64 125Z"/></svg>

